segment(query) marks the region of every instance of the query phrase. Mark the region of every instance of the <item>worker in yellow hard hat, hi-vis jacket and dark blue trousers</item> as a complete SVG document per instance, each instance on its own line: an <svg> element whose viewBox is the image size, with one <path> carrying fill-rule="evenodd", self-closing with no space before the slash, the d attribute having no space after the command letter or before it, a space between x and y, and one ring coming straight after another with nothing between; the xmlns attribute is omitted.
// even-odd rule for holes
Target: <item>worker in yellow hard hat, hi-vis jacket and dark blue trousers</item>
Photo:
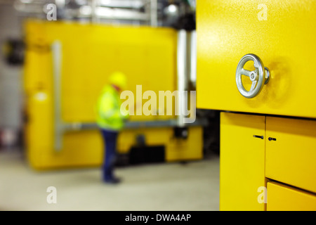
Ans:
<svg viewBox="0 0 316 225"><path fill-rule="evenodd" d="M124 127L129 115L126 110L121 112L120 93L126 89L126 76L121 72L110 75L109 83L100 94L97 105L97 124L100 127L105 143L103 161L103 181L117 184L120 179L114 176L117 135Z"/></svg>

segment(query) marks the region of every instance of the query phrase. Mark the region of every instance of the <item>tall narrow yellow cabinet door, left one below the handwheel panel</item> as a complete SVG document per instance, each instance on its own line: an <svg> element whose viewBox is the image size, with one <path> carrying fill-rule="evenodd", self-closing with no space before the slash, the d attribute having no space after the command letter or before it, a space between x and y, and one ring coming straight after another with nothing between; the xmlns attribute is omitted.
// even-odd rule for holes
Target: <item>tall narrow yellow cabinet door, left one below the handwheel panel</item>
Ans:
<svg viewBox="0 0 316 225"><path fill-rule="evenodd" d="M220 113L220 210L265 210L264 136L265 117Z"/></svg>

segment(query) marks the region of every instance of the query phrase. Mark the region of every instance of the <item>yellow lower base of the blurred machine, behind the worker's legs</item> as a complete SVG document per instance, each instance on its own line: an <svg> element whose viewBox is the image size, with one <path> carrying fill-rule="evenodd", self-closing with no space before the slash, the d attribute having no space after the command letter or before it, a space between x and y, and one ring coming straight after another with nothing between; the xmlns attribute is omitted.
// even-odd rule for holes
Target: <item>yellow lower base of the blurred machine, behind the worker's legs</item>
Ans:
<svg viewBox="0 0 316 225"><path fill-rule="evenodd" d="M202 127L190 127L187 140L173 138L172 128L126 129L119 134L117 150L129 153L136 146L136 136L145 135L148 146L165 146L166 162L178 160L200 160L203 158ZM30 133L32 134L32 133ZM84 141L79 141L83 139ZM29 154L32 165L37 169L62 167L83 167L101 165L103 162L103 141L100 131L75 131L65 134L64 150L56 153L51 146L37 148ZM90 151L88 151L90 149Z"/></svg>

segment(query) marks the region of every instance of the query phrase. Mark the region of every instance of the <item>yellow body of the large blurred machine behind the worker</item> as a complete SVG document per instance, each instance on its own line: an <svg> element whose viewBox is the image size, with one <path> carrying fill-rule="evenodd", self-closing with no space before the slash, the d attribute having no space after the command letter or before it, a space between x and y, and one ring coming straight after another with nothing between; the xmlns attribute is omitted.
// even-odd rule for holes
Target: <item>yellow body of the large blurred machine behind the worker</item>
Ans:
<svg viewBox="0 0 316 225"><path fill-rule="evenodd" d="M96 122L97 98L108 75L116 70L128 77L127 90L133 91L134 102L138 105L147 101L141 100L146 90L158 96L158 91L176 89L176 31L171 28L29 20L25 23L25 41L23 77L28 118L25 142L29 162L36 169L93 166L103 161L103 141L97 130L67 132L60 152L53 148L51 44L54 41L62 45L61 114L64 122ZM138 84L142 85L140 96L136 94ZM134 115L130 120L173 117ZM126 153L140 132L150 144L166 145L167 161L202 158L201 127L190 129L190 141L181 143L173 141L172 128L124 131L119 136L119 152ZM192 145L197 148L189 150Z"/></svg>

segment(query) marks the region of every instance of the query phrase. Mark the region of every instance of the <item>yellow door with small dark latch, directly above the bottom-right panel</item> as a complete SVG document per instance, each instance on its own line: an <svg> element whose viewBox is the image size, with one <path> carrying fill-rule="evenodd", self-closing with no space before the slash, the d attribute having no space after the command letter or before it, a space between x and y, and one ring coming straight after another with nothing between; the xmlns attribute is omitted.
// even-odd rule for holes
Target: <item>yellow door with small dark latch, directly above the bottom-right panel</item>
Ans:
<svg viewBox="0 0 316 225"><path fill-rule="evenodd" d="M316 121L267 117L265 163L268 178L316 193Z"/></svg>

